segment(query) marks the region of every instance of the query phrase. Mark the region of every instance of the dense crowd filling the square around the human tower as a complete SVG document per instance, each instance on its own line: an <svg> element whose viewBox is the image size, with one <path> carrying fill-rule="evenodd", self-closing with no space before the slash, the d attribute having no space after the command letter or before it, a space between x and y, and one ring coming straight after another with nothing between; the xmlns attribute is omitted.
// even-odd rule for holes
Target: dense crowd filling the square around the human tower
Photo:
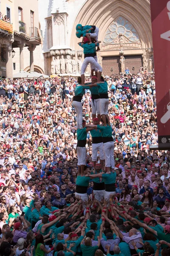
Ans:
<svg viewBox="0 0 170 256"><path fill-rule="evenodd" d="M154 73L105 80L116 196L97 201L91 180L84 204L75 198L77 77L0 80L1 256L170 255L170 151L149 148L158 145ZM91 104L85 90L86 125ZM89 174L91 142L88 132Z"/></svg>

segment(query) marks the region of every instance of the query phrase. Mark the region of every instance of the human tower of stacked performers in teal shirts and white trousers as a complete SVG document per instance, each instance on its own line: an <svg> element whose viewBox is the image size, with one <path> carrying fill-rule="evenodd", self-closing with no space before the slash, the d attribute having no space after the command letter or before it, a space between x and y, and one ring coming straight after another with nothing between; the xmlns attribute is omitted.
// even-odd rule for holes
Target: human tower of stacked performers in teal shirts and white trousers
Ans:
<svg viewBox="0 0 170 256"><path fill-rule="evenodd" d="M77 157L78 157L78 176L76 181L76 196L83 201L88 200L87 189L89 181L94 181L94 195L97 200L109 198L110 194L115 194L116 173L114 172L114 142L112 128L108 116L108 84L102 75L102 67L97 62L96 51L99 50L98 34L96 26L76 27L78 38L83 37L82 42L78 43L84 51L84 62L81 69L81 78L78 78L78 85L75 89L73 106L77 113ZM96 47L98 47L96 49ZM85 69L91 64L91 84L85 84ZM94 71L95 75L94 76ZM85 125L82 119L82 96L85 90L91 91L91 107L93 125ZM97 118L96 118L97 115ZM99 125L99 122L102 125ZM87 132L92 136L92 161L94 163L95 174L87 173L86 167L86 139ZM99 151L100 163L96 163ZM105 172L104 172L105 161Z"/></svg>

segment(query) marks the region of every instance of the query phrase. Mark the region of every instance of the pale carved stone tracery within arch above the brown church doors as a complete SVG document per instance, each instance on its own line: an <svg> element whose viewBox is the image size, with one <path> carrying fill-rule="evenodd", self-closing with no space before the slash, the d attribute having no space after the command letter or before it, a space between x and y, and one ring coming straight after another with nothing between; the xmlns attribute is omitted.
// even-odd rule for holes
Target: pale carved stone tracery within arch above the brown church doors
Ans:
<svg viewBox="0 0 170 256"><path fill-rule="evenodd" d="M115 44L115 39L119 38L119 44L123 44L123 39L128 43L140 42L139 35L133 25L124 17L119 16L111 23L106 31L104 43Z"/></svg>

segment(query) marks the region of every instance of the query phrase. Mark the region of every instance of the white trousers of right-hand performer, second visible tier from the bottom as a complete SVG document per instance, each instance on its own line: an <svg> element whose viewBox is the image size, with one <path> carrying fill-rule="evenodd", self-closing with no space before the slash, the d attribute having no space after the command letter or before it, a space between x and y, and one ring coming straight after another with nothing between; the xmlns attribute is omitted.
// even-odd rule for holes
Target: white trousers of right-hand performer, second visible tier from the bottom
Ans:
<svg viewBox="0 0 170 256"><path fill-rule="evenodd" d="M114 168L114 142L109 141L106 143L103 143L103 148L105 152L105 166Z"/></svg>

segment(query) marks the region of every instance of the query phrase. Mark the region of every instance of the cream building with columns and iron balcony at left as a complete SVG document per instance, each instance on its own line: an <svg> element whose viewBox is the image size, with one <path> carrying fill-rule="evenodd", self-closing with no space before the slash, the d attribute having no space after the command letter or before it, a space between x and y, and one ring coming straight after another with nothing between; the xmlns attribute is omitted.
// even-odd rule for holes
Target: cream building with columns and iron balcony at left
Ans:
<svg viewBox="0 0 170 256"><path fill-rule="evenodd" d="M36 64L40 65L40 58L36 57L35 61L34 56L37 53L42 56L39 49L37 53L35 50L42 44L38 0L3 0L0 12L3 17L7 15L9 18L8 23L0 20L0 76L12 78L14 73L21 70L35 71Z"/></svg>

